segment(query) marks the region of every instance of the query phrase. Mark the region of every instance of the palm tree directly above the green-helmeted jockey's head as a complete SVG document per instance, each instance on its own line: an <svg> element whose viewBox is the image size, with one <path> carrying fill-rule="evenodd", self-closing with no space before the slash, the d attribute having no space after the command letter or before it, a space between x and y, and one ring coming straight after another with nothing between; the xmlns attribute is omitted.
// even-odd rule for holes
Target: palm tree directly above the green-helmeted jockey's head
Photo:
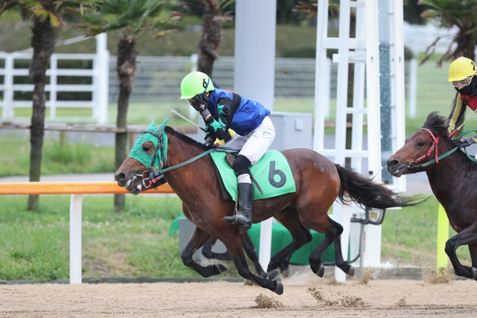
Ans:
<svg viewBox="0 0 477 318"><path fill-rule="evenodd" d="M199 60L197 61L197 71L212 77L214 61L219 58L217 48L222 41L222 24L224 21L230 21L233 17L230 11L224 12L225 9L235 0L192 0L180 2L181 5L189 9L196 2L204 6L204 21L202 28L202 37L199 42Z"/></svg>

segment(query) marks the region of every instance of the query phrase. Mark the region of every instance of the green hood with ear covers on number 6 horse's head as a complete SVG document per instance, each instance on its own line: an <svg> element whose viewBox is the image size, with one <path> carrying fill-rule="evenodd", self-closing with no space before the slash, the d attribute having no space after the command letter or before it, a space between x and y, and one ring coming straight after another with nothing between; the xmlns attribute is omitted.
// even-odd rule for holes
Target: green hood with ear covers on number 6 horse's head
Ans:
<svg viewBox="0 0 477 318"><path fill-rule="evenodd" d="M148 129L146 130L149 130L157 135L161 135L162 134L162 137L163 137L163 145L164 145L164 159L166 159L166 156L167 156L167 136L165 135L164 133L164 128L165 128L165 125L167 124L167 121L169 120L169 118L166 118L164 120L164 122L162 124L160 124L159 126L156 127L156 124L154 123L154 120L151 121L151 124L149 124L149 127ZM131 157L133 159L136 159L138 160L139 162L141 162L146 168L149 168L149 166L151 165L151 162L153 161L153 157L154 155L148 155L146 154L146 152L143 150L143 144L145 142L152 142L153 145L154 145L154 152L156 152L156 147L159 143L159 140L156 136L154 135L151 135L151 134L141 134L141 136L139 136L139 138L134 142L133 144L133 147L131 147L131 152L129 153L129 156L128 157ZM156 159L156 162L154 163L154 167L159 167L159 168L162 168L159 166L159 163L160 163L160 149L158 151L158 158ZM154 168L153 167L153 168Z"/></svg>

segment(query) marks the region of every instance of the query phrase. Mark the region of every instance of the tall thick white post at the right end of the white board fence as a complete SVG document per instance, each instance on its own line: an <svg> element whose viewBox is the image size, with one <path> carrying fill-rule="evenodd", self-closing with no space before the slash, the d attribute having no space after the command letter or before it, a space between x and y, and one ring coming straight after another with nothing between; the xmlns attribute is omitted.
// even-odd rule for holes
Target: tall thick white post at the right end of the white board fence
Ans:
<svg viewBox="0 0 477 318"><path fill-rule="evenodd" d="M109 103L109 51L107 48L107 35L96 35L96 58L94 60L94 92L93 117L98 124L105 124L108 119Z"/></svg>

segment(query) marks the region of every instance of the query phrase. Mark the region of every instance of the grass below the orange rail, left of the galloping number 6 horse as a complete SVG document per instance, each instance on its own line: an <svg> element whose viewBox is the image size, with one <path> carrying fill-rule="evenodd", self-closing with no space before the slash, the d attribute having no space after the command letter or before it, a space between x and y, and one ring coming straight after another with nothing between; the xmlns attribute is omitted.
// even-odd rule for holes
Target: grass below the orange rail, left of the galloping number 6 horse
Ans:
<svg viewBox="0 0 477 318"><path fill-rule="evenodd" d="M42 196L35 213L26 201L0 196L0 279L68 278L70 197ZM83 276L198 276L182 264L178 235L167 235L181 201L128 195L126 202L114 213L112 195L83 198Z"/></svg>

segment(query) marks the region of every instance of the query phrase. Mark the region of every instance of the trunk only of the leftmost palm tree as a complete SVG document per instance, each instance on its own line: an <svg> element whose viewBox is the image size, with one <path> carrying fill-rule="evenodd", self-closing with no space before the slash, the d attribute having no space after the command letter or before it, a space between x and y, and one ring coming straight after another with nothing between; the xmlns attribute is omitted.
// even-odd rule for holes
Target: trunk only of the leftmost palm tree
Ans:
<svg viewBox="0 0 477 318"><path fill-rule="evenodd" d="M30 76L35 82L33 88L33 113L30 127L30 182L40 181L41 174L41 151L43 147L43 134L45 123L45 83L46 70L50 57L55 50L57 30L50 25L50 19L40 21L33 20L31 46L33 58L30 63ZM29 211L38 209L39 196L28 196Z"/></svg>

